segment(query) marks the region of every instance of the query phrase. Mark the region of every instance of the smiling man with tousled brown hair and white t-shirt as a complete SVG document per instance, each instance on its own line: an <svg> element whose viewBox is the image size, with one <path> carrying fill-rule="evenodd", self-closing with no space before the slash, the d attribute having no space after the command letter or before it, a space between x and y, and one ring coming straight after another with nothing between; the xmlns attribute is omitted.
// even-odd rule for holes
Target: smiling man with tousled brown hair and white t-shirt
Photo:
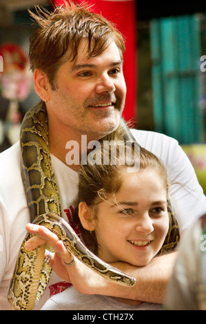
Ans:
<svg viewBox="0 0 206 324"><path fill-rule="evenodd" d="M41 104L45 103L48 112L50 154L59 188L62 216L72 223L78 165L68 166L65 163L68 153L66 143L79 143L82 154L87 152L87 145L81 147L82 134L87 136L89 143L102 139L118 127L126 95L124 43L121 34L103 17L74 5L56 9L50 14L39 10L37 16L32 16L40 26L30 41L34 85ZM206 199L192 165L174 139L153 132L133 130L132 133L141 146L156 154L167 166L172 184L169 194L181 230L185 230L206 210ZM17 143L3 152L0 159L0 305L3 309L10 309L6 294L25 235L25 225L30 221L20 174L20 154ZM72 261L52 233L38 229L37 234L52 241L63 261ZM41 243L42 239L36 239ZM30 247L37 241L30 243ZM101 285L96 281L95 287L85 286L84 292L162 303L175 258L176 254L160 256L143 268L117 264L116 267L136 277L134 287L123 288L109 282ZM72 282L75 267L68 267L69 270L63 268L58 254L55 254L55 262L54 255L50 262L54 263L56 273ZM37 308L45 303L49 291L60 292L66 286L67 283L52 274Z"/></svg>

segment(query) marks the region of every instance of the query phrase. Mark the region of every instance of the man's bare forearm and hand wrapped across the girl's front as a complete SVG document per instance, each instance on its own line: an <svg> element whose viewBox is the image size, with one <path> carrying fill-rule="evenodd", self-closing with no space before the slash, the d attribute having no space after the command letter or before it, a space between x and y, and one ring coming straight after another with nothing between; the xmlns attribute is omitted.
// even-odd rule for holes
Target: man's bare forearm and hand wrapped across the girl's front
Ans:
<svg viewBox="0 0 206 324"><path fill-rule="evenodd" d="M133 287L124 287L103 279L79 260L76 260L74 265L67 267L65 263L72 261L72 254L65 249L63 242L59 241L58 237L47 228L28 224L27 230L37 236L33 236L25 247L28 250L33 250L45 242L52 245L55 253L49 263L50 266L57 275L61 276L63 280L72 283L79 292L163 303L167 283L176 259L176 252L157 256L144 267L134 267L127 263L112 264L114 267L136 278L136 284Z"/></svg>

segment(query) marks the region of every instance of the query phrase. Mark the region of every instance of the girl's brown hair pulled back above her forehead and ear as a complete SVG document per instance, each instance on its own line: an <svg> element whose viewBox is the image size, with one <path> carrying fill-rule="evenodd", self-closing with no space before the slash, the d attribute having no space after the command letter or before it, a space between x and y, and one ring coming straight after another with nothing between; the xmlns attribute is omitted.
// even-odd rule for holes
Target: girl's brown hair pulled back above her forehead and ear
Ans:
<svg viewBox="0 0 206 324"><path fill-rule="evenodd" d="M124 150L121 150L122 147ZM125 154L121 154L122 152ZM133 143L130 147L128 145L127 150L123 141L114 142L113 146L110 145L109 163L107 164L103 163L103 156L107 154L103 145L101 152L96 150L96 156L98 154L99 160L95 159L94 165L87 163L87 165L81 166L79 171L79 201L85 201L87 206L98 204L101 201L101 196L105 196L107 199L110 194L118 192L123 183L124 171L130 172L130 168L134 168L134 164L137 166L134 171L138 172L148 168L155 169L161 176L165 189L168 190L165 166L154 154L141 148L137 143L136 145ZM135 162L134 159L136 159ZM131 169L131 171L133 170Z"/></svg>

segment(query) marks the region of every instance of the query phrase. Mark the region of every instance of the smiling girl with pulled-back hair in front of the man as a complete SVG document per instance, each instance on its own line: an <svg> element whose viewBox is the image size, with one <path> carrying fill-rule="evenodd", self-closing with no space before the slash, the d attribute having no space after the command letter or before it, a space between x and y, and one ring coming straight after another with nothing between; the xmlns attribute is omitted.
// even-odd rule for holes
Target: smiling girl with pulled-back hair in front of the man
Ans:
<svg viewBox="0 0 206 324"><path fill-rule="evenodd" d="M103 261L123 261L142 267L154 256L174 248L178 241L178 226L168 202L165 167L151 152L139 148L136 154L135 148L131 146L130 152L125 150L124 155L122 145L113 147L106 164L98 161L103 161L105 154L101 149L101 155L96 152L96 164L81 167L79 213L74 221L76 228L81 227L87 245ZM114 156L116 163L112 161ZM134 159L138 160L136 169L131 165ZM72 267L77 265L82 269L85 267L75 259ZM72 267L68 267L68 271ZM161 305L87 295L70 287L50 298L42 309L159 310Z"/></svg>

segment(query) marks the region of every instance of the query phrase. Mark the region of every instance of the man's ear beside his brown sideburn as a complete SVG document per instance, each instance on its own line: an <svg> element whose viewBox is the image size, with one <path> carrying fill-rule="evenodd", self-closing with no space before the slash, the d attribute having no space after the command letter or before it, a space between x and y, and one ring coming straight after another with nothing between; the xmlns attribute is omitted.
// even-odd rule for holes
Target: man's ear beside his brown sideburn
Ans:
<svg viewBox="0 0 206 324"><path fill-rule="evenodd" d="M48 102L50 95L48 92L48 79L45 73L39 69L34 70L34 89L41 100Z"/></svg>

